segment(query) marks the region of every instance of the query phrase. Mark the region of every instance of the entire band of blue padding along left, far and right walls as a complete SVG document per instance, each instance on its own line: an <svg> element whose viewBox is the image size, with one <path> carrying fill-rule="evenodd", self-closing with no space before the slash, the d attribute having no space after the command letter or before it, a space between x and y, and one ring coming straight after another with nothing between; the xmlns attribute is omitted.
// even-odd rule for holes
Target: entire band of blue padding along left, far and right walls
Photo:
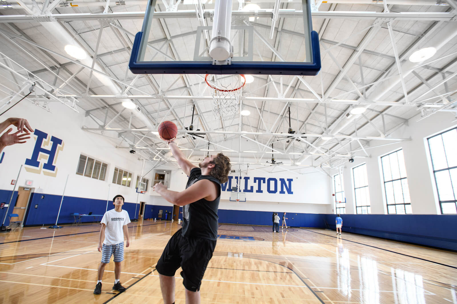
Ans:
<svg viewBox="0 0 457 304"><path fill-rule="evenodd" d="M12 191L0 190L0 202L9 203ZM42 198L44 196L44 198ZM17 199L17 191L14 192L11 206L8 213L13 212ZM56 221L58 208L62 196L46 193L32 193L26 213L26 226L52 225ZM35 208L37 205L37 208ZM113 208L112 201L108 202L108 210ZM130 216L130 219L138 219L140 204L125 202L122 207ZM71 213L80 214L104 214L106 200L65 196L58 219L58 224L69 224L74 221ZM146 205L143 218L159 219L159 210L173 213L173 206ZM179 218L182 220L182 207L180 207ZM6 214L6 208L0 209L0 223ZM244 225L266 225L271 226L270 211L242 211L219 209L219 223L244 224ZM282 219L282 213L278 211ZM287 213L287 226L292 227L313 227L335 229L335 214L314 214L314 213ZM457 251L457 233L455 224L457 215L397 215L397 214L345 214L343 218L343 232L354 232L372 237L382 237L389 240L409 242L418 245L438 247ZM98 221L101 217L98 218ZM94 218L85 216L82 222L93 222ZM326 226L328 224L328 226ZM5 226L9 225L9 218L6 216ZM281 225L281 222L280 222Z"/></svg>

